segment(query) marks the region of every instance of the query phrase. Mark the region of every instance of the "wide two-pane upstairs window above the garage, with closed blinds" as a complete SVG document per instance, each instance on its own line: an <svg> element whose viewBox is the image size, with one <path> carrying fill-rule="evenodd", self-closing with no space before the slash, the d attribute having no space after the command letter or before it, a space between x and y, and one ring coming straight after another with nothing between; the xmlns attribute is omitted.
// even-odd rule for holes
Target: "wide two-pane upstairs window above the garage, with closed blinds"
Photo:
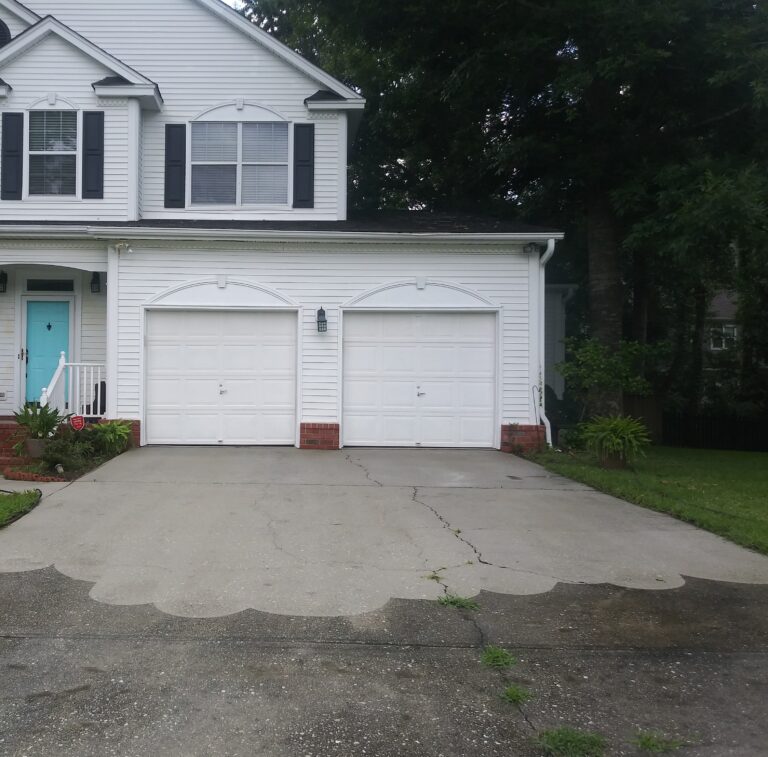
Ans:
<svg viewBox="0 0 768 757"><path fill-rule="evenodd" d="M192 203L288 203L288 124L192 124Z"/></svg>

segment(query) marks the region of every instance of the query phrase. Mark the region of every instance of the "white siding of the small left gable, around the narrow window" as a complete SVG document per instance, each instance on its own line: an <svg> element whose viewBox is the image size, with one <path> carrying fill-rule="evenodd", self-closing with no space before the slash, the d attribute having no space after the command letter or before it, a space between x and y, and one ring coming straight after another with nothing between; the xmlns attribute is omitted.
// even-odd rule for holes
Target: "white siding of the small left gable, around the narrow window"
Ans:
<svg viewBox="0 0 768 757"><path fill-rule="evenodd" d="M125 100L99 101L91 87L92 82L109 74L108 69L53 36L3 67L3 78L13 87L3 103L5 111L22 113L31 106L33 110L47 108L51 94L63 100L66 109L104 111L104 199L30 195L20 201L0 203L0 220L127 220L128 106ZM63 105L50 106L50 109L63 110ZM28 135L26 141L29 141ZM28 184L26 156L24 172Z"/></svg>

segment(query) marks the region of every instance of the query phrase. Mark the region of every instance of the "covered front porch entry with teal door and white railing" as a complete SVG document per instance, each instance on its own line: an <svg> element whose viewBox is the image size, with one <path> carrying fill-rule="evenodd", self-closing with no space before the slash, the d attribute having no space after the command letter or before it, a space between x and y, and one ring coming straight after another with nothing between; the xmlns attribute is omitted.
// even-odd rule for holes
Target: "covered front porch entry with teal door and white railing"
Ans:
<svg viewBox="0 0 768 757"><path fill-rule="evenodd" d="M106 416L104 259L83 270L0 257L0 418L12 418L25 402Z"/></svg>

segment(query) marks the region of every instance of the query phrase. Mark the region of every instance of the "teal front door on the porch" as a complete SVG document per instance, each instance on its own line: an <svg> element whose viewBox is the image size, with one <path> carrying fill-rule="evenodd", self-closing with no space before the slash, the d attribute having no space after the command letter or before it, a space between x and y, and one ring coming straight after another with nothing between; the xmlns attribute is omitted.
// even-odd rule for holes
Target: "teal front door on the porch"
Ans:
<svg viewBox="0 0 768 757"><path fill-rule="evenodd" d="M69 302L27 302L27 402L38 402L59 364L69 358Z"/></svg>

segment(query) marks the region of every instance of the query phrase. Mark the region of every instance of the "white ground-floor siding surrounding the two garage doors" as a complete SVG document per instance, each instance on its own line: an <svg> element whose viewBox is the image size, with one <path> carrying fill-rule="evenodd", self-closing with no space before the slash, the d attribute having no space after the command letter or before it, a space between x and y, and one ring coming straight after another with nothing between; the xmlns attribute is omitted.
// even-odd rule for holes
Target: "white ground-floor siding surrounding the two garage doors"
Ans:
<svg viewBox="0 0 768 757"><path fill-rule="evenodd" d="M226 275L270 287L300 306L301 406L305 423L337 423L341 415L339 307L388 282L430 278L464 286L501 307L501 412L507 423L531 423L528 257L499 247L471 252L444 245L430 250L400 245L131 244L120 259L120 376L118 413L142 412L142 309L153 297L185 282ZM323 306L328 332L317 331Z"/></svg>

